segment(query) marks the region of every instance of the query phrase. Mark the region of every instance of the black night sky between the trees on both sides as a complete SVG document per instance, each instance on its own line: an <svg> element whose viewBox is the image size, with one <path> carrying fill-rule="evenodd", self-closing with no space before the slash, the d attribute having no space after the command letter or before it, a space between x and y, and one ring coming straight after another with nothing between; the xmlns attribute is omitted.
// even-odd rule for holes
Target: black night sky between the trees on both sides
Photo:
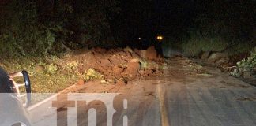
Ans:
<svg viewBox="0 0 256 126"><path fill-rule="evenodd" d="M190 25L193 16L193 0L122 0L114 27L122 28L127 38L175 35Z"/></svg>

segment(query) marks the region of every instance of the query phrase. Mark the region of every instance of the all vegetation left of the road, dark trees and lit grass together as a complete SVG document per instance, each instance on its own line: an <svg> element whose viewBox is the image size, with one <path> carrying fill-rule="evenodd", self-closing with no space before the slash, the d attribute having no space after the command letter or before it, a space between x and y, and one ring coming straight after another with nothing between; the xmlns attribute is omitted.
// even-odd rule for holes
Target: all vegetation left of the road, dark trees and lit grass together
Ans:
<svg viewBox="0 0 256 126"><path fill-rule="evenodd" d="M112 13L119 12L118 4L117 0L2 1L0 66L7 72L27 70L33 92L57 92L76 83L78 63L61 63L60 57L70 49L114 43L109 21Z"/></svg>

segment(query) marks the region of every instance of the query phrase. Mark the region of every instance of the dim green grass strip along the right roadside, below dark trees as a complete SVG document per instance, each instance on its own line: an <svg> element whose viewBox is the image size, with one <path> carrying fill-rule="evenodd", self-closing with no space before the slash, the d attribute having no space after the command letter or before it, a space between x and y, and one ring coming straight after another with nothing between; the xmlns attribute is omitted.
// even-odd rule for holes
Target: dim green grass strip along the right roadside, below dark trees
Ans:
<svg viewBox="0 0 256 126"><path fill-rule="evenodd" d="M249 39L225 40L221 37L202 37L192 35L190 39L181 44L181 49L188 56L199 56L204 51L224 51L229 56L247 53L255 44Z"/></svg>

